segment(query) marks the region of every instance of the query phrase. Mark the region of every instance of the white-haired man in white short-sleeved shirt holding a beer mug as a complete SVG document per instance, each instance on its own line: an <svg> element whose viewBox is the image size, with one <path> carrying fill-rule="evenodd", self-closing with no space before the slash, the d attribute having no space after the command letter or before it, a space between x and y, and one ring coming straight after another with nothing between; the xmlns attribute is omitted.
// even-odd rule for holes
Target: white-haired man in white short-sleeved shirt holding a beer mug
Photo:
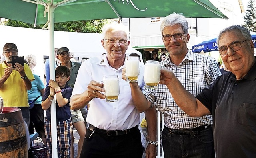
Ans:
<svg viewBox="0 0 256 158"><path fill-rule="evenodd" d="M102 28L102 46L106 55L84 61L79 69L70 98L71 108L81 109L90 103L81 158L142 158L143 148L138 129L140 112L134 106L128 82L121 79L125 53L130 41L124 25L111 23ZM140 62L139 87L144 86L144 68ZM117 102L106 102L103 76L118 75L120 94ZM150 115L151 114L151 115ZM149 138L156 141L156 111L146 112ZM153 120L153 121L152 121ZM154 124L152 124L154 123ZM156 157L156 146L149 144L148 158Z"/></svg>

